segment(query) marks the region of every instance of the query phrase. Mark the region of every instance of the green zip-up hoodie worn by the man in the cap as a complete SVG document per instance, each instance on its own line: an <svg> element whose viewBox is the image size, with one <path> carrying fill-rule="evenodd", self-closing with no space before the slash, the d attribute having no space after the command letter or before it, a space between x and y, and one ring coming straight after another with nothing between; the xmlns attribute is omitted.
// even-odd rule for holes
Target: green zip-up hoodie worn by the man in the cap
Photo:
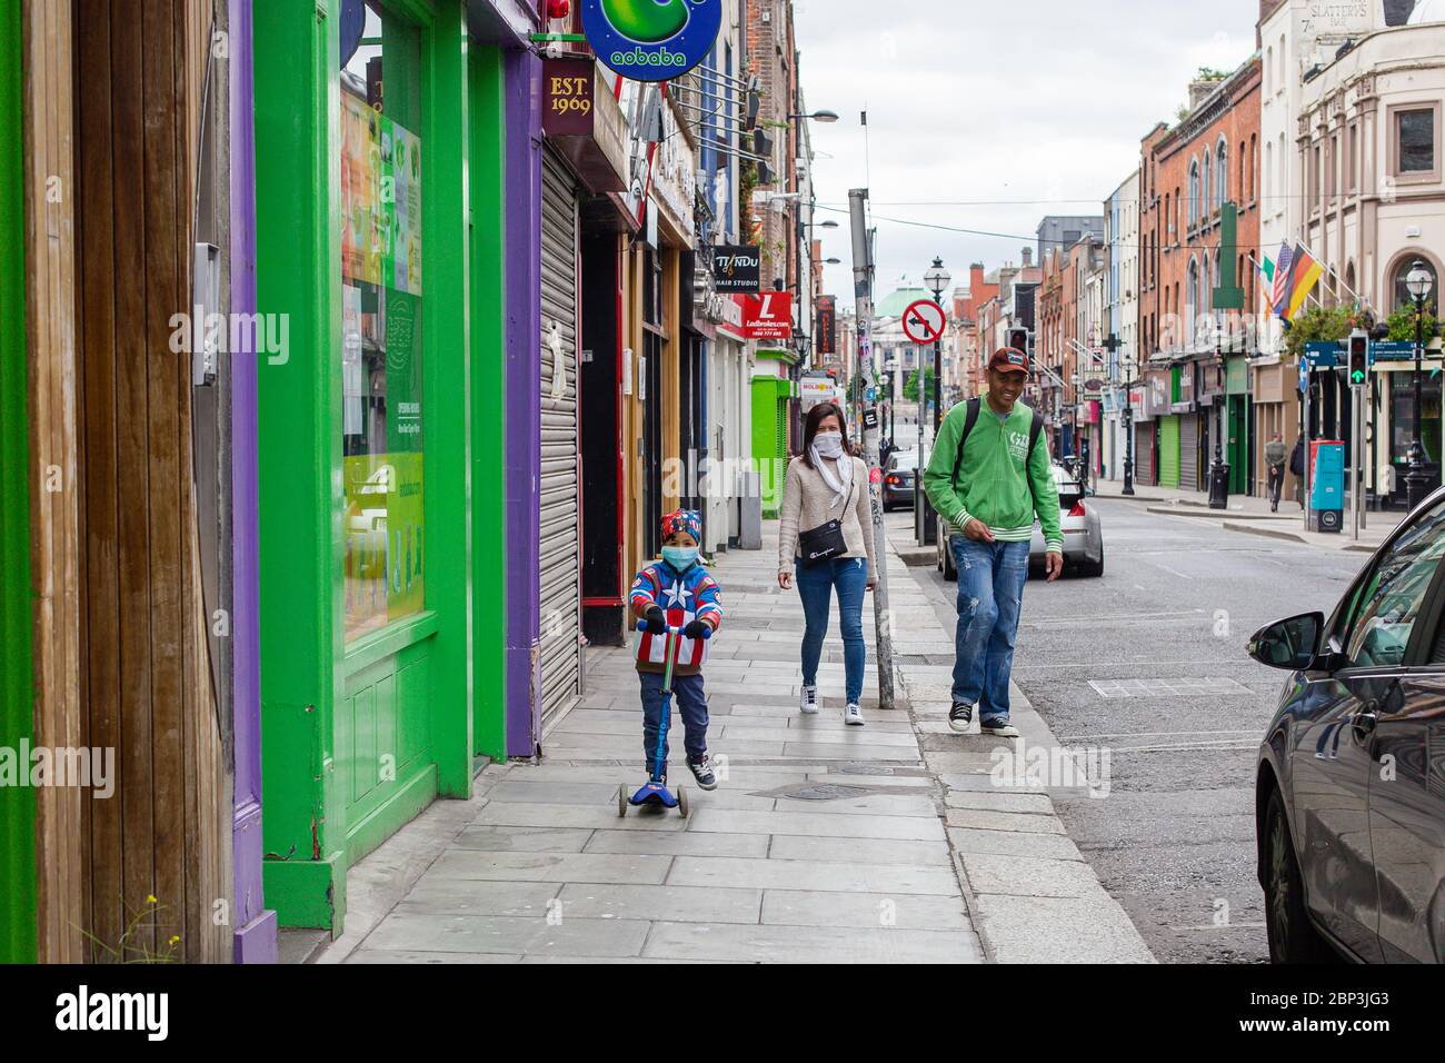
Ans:
<svg viewBox="0 0 1445 1063"><path fill-rule="evenodd" d="M970 519L983 521L998 542L1027 542L1033 537L1033 515L1043 526L1051 551L1064 552L1059 531L1059 496L1049 471L1049 444L1039 438L1029 457L1033 411L1022 402L1000 421L988 399L981 401L978 421L958 458L958 441L968 419L968 404L959 402L944 418L933 457L923 473L923 490L939 516L961 535ZM954 464L958 479L954 479ZM1039 500L1043 505L1039 505Z"/></svg>

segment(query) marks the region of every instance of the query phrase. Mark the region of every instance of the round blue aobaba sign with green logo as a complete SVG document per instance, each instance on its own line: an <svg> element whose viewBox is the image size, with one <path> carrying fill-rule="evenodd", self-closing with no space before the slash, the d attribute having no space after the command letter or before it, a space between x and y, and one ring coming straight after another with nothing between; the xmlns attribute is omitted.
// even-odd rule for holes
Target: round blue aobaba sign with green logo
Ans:
<svg viewBox="0 0 1445 1063"><path fill-rule="evenodd" d="M722 0L582 0L582 32L604 67L672 81L701 64L722 29Z"/></svg>

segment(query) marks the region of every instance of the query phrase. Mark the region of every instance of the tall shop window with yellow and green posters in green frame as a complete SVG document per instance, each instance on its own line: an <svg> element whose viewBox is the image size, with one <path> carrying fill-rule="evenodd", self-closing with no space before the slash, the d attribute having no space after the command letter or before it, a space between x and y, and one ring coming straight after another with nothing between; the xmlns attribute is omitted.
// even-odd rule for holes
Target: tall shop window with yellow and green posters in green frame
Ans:
<svg viewBox="0 0 1445 1063"><path fill-rule="evenodd" d="M341 32L345 638L425 609L422 49L380 3Z"/></svg>

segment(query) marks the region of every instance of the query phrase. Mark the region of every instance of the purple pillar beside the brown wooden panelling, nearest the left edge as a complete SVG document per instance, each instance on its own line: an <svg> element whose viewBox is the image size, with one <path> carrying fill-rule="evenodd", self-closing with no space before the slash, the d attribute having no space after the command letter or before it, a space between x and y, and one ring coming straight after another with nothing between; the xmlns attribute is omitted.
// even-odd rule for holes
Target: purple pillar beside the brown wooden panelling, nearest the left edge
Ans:
<svg viewBox="0 0 1445 1063"><path fill-rule="evenodd" d="M251 0L230 0L231 26L231 311L256 312L256 123L251 93ZM262 892L262 703L260 587L256 490L256 359L231 357L231 534L234 602L236 808L231 853L236 862L237 963L276 962L276 913Z"/></svg>

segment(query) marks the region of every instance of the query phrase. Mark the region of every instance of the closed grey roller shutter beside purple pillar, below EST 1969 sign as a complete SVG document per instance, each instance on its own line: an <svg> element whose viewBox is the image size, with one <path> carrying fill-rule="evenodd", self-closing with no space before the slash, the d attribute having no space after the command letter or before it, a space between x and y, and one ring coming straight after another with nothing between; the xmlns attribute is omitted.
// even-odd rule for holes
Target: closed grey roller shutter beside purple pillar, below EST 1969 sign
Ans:
<svg viewBox="0 0 1445 1063"><path fill-rule="evenodd" d="M577 185L551 149L542 163L542 733L581 683L577 443Z"/></svg>

